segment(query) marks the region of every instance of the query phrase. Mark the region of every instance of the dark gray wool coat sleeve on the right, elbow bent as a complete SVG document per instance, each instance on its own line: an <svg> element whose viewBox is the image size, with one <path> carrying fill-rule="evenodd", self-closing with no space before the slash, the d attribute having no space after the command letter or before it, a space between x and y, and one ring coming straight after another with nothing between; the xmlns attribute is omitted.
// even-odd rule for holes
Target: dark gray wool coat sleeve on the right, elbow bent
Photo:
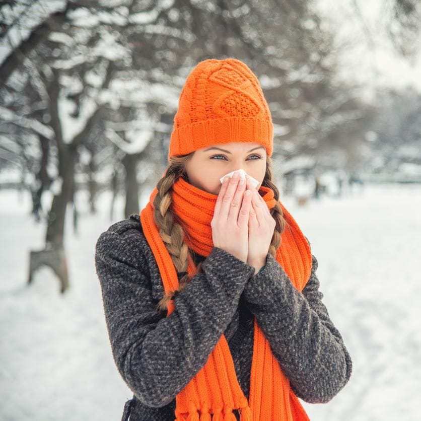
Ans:
<svg viewBox="0 0 421 421"><path fill-rule="evenodd" d="M318 262L312 258L302 293L268 253L266 266L248 280L243 296L296 395L325 403L349 380L352 360L322 303Z"/></svg>

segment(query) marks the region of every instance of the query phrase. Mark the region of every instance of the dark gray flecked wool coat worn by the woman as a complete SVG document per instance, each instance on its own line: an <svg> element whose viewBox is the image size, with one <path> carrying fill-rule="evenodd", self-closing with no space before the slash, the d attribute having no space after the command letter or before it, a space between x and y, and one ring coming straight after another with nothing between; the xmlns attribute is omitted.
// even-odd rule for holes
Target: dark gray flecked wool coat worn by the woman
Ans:
<svg viewBox="0 0 421 421"><path fill-rule="evenodd" d="M112 224L97 240L96 272L112 355L133 392L122 420L173 421L175 396L222 334L249 398L253 315L299 398L328 402L343 388L352 360L322 303L314 255L302 293L269 253L255 275L252 266L218 247L194 260L204 260L204 272L175 295L175 310L166 317L167 310L156 310L164 288L139 215Z"/></svg>

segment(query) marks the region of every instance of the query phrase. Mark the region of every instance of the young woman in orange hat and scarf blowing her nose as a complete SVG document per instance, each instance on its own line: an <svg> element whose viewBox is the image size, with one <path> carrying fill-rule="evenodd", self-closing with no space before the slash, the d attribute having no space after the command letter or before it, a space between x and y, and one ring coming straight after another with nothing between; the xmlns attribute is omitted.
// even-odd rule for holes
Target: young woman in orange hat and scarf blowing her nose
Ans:
<svg viewBox="0 0 421 421"><path fill-rule="evenodd" d="M96 244L123 420L306 420L352 361L317 259L272 180L273 125L240 60L188 75L169 166L139 214ZM242 169L258 181L233 175Z"/></svg>

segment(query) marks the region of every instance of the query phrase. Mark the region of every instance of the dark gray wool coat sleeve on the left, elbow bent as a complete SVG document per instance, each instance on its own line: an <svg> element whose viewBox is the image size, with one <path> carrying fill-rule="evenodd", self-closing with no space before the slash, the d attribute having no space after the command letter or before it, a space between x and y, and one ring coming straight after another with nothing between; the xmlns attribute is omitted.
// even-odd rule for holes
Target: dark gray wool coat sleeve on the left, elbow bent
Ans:
<svg viewBox="0 0 421 421"><path fill-rule="evenodd" d="M137 245L135 246L137 247ZM133 240L106 231L95 248L105 320L117 369L148 406L170 403L204 366L230 323L254 268L214 247L175 309L156 309L147 258Z"/></svg>

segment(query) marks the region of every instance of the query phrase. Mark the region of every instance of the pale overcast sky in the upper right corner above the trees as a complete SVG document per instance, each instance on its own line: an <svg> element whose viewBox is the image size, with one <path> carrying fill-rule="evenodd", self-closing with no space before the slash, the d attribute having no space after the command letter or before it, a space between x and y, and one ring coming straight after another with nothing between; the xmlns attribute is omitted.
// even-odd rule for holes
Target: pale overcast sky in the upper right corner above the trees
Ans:
<svg viewBox="0 0 421 421"><path fill-rule="evenodd" d="M401 89L411 85L421 93L421 47L413 63L393 50L385 30L390 0L316 0L316 3L333 25L337 42L350 41L341 56L341 77L373 88ZM360 18L354 3L361 11ZM421 46L421 42L418 45Z"/></svg>

